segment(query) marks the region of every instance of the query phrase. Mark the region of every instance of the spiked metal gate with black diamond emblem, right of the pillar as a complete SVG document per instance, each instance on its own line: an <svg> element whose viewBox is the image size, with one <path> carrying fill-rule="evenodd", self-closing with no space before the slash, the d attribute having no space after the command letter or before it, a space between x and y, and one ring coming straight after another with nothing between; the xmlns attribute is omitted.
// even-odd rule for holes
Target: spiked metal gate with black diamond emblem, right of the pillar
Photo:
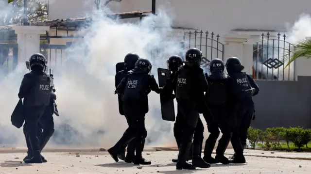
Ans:
<svg viewBox="0 0 311 174"><path fill-rule="evenodd" d="M275 38L270 35L262 33L261 41L253 45L253 78L295 80L295 62L287 68L284 62L285 55L293 53L294 45L286 41L285 34L278 33Z"/></svg>

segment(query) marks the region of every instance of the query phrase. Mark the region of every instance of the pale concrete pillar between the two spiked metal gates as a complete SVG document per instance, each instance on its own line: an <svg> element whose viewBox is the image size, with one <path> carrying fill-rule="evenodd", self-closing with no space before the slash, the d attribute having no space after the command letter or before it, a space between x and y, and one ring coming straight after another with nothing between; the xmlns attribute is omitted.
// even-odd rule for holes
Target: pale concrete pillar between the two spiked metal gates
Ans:
<svg viewBox="0 0 311 174"><path fill-rule="evenodd" d="M226 34L224 36L225 61L229 57L238 57L247 74L253 73L253 43L248 43L249 36L244 34Z"/></svg>

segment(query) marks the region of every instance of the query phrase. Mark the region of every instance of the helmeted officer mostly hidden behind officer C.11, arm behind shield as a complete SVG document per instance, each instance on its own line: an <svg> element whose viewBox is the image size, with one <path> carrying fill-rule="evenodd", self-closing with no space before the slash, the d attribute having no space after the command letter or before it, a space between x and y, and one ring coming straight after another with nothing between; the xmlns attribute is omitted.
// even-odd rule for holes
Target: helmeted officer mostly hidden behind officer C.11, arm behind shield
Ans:
<svg viewBox="0 0 311 174"><path fill-rule="evenodd" d="M171 94L172 91L176 94L176 86L173 86L173 78L175 73L177 72L178 68L183 65L183 60L179 56L171 56L169 60L167 60L168 69L172 72L171 77L167 79L163 91L167 94ZM171 88L171 89L170 89ZM178 99L177 103L178 103ZM180 111L177 109L176 121L174 123L173 133L177 143L177 147L179 148L182 136L183 136L183 126L185 124L184 116L181 115ZM200 168L209 168L210 165L207 164L202 158L202 143L203 143L203 136L204 133L204 126L200 118L198 118L197 125L195 127L195 132L193 136L193 145L190 146L190 152L188 160L192 159L192 165ZM172 159L173 162L177 162L178 159Z"/></svg>

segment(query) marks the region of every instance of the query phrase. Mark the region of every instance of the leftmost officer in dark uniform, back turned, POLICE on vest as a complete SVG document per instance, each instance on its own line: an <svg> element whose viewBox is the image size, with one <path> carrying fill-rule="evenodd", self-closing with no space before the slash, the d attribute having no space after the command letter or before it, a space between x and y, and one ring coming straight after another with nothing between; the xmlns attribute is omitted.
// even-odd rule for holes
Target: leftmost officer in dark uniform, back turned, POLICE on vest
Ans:
<svg viewBox="0 0 311 174"><path fill-rule="evenodd" d="M44 73L47 60L39 53L29 59L30 73L22 79L18 97L24 98L23 114L25 119L25 133L32 150L32 158L25 159L25 163L42 163L40 146L36 135L37 122L46 106L50 104L50 77Z"/></svg>

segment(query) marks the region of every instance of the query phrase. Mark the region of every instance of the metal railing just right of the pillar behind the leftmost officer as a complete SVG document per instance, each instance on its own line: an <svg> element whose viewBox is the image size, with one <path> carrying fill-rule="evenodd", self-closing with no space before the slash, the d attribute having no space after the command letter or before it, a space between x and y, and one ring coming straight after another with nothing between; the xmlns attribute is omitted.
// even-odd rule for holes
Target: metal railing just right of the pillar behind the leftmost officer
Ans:
<svg viewBox="0 0 311 174"><path fill-rule="evenodd" d="M61 65L66 58L67 45L40 45L40 53L48 60L49 67Z"/></svg>

